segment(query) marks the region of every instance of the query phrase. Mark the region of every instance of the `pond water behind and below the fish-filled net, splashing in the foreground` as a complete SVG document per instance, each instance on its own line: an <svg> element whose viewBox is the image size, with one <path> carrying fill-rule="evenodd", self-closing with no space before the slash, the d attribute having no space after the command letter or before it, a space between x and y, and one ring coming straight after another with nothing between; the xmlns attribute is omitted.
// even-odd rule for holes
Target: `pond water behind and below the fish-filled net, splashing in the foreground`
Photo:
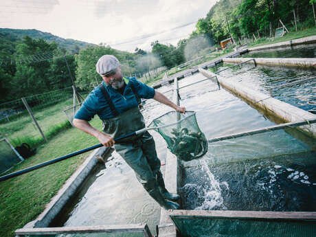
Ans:
<svg viewBox="0 0 316 237"><path fill-rule="evenodd" d="M179 87L203 78L185 78ZM266 115L208 83L187 87L180 96L182 106L197 112L209 139L273 125ZM181 162L182 209L316 210L315 140L302 142L296 134L274 131L214 142L202 159Z"/></svg>

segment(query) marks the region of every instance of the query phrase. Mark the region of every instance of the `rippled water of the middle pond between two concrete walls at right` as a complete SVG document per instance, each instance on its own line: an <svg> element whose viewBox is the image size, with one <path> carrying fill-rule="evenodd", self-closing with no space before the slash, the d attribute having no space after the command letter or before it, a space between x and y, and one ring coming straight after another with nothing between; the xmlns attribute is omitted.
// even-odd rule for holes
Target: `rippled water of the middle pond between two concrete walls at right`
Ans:
<svg viewBox="0 0 316 237"><path fill-rule="evenodd" d="M230 65L229 65L230 66ZM225 69L227 66L221 65L217 70ZM308 78L314 78L300 84L273 89L273 98L297 106L300 109L316 113L316 70L306 70L287 67L254 67L253 65L240 65L227 69L219 74L227 80L244 84L256 91L267 94L269 98L269 88L282 84L296 82Z"/></svg>

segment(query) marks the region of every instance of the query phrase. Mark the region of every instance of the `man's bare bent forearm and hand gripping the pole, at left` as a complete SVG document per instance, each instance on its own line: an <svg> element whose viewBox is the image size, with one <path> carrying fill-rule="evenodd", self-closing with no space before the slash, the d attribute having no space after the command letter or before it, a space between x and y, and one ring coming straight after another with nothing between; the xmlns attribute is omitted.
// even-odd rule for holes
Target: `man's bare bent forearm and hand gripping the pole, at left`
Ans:
<svg viewBox="0 0 316 237"><path fill-rule="evenodd" d="M115 141L111 136L98 131L98 129L96 128L93 128L93 126L91 126L91 124L89 124L87 120L79 120L75 118L73 120L73 124L74 126L76 126L76 128L79 128L81 131L84 131L84 133L88 133L93 137L98 138L100 143L103 144L103 146L110 147L113 146L113 144L115 144Z"/></svg>

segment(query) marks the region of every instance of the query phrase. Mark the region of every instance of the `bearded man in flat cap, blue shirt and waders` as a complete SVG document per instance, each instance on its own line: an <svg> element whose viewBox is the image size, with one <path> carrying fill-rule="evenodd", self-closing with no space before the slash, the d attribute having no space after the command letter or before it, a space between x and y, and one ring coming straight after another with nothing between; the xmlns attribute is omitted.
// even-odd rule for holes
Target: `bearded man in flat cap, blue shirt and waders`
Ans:
<svg viewBox="0 0 316 237"><path fill-rule="evenodd" d="M115 143L114 139L145 127L144 117L138 104L140 98L153 98L172 109L185 113L185 107L177 106L166 96L136 80L122 76L120 62L112 55L104 55L96 64L96 71L103 82L88 95L74 117L74 126L98 138L106 147L115 150L133 168L136 177L150 196L165 209L179 209L178 194L165 188L160 171L160 160L155 150L153 137L147 131L141 135L127 137ZM89 124L98 114L103 131Z"/></svg>

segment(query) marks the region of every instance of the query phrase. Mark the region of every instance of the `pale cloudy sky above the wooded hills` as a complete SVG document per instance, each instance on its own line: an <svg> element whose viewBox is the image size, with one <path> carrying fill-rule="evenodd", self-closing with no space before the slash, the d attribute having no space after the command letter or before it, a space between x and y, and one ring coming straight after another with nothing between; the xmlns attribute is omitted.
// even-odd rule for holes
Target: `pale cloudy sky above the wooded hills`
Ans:
<svg viewBox="0 0 316 237"><path fill-rule="evenodd" d="M218 0L1 0L0 28L36 29L61 38L150 51L177 45Z"/></svg>

